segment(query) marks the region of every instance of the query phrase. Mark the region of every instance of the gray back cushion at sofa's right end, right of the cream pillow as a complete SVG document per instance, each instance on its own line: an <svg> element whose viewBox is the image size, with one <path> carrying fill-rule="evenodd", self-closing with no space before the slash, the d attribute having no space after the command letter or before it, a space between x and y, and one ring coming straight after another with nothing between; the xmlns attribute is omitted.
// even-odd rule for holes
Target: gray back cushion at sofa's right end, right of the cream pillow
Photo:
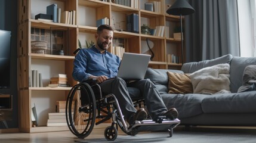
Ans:
<svg viewBox="0 0 256 143"><path fill-rule="evenodd" d="M230 64L230 90L232 93L238 92L242 86L243 71L249 65L256 65L256 57L233 57Z"/></svg>

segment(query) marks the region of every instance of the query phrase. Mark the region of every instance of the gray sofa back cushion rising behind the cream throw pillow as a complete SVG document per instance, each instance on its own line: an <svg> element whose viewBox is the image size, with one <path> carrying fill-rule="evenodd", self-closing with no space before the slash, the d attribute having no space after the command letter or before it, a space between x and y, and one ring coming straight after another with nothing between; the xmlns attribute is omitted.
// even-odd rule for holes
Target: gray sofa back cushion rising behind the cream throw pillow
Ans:
<svg viewBox="0 0 256 143"><path fill-rule="evenodd" d="M190 62L190 63L184 63L181 67L181 70L184 73L193 73L197 70L203 69L204 67L211 67L216 64L224 64L224 63L230 63L232 60L232 55L227 54L223 55L222 57L215 58L213 60L204 60L199 62Z"/></svg>

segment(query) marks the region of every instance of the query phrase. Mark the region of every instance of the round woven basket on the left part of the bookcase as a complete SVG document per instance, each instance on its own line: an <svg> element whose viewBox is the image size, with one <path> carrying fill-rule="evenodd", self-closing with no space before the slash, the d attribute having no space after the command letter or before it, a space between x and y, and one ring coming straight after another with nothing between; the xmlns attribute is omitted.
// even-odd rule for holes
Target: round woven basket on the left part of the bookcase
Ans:
<svg viewBox="0 0 256 143"><path fill-rule="evenodd" d="M36 54L45 54L47 41L31 41L31 52Z"/></svg>

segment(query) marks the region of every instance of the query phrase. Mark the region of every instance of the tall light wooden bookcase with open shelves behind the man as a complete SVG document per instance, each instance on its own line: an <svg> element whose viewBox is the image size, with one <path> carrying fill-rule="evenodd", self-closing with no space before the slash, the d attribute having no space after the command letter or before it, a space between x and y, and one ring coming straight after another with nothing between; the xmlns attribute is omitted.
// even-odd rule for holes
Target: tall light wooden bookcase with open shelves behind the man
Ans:
<svg viewBox="0 0 256 143"><path fill-rule="evenodd" d="M48 132L57 130L67 130L67 126L51 127L47 126L48 113L54 111L54 100L63 100L69 92L70 87L58 87L50 88L47 87L50 83L51 75L54 70L58 71L57 66L53 66L53 63L61 63L62 65L58 72L67 74L69 85L73 86L77 82L72 78L73 69L73 51L79 47L78 40L82 42L82 47L85 47L85 41L94 41L94 33L97 30L97 20L106 19L105 22L109 23L115 28L114 38L122 39L122 47L125 52L146 53L150 54L147 49L146 40L149 39L153 43L150 47L155 54L155 57L149 63L149 67L157 69L167 69L177 67L180 68L181 64L173 64L167 61L167 54L180 55L180 41L173 39L171 36L171 29L165 32L166 29L162 29L158 35L144 35L141 33L141 26L148 24L150 28L156 29L156 27L162 26L162 28L169 26L170 21L178 23L177 17L172 17L165 14L165 4L169 1L138 1L131 0L131 4L115 4L110 0L97 1L97 0L74 0L74 1L63 1L63 0L23 0L19 1L18 10L18 101L19 101L19 128L21 132ZM144 10L144 3L152 2L153 4L160 4L161 10L159 11L146 11ZM58 4L61 8L61 14L63 11L75 11L75 21L72 23L66 23L62 20L61 23L54 23L50 21L35 20L35 15L39 13L45 13L46 7L51 4ZM169 3L168 3L169 4ZM35 8L36 5L36 8ZM135 15L137 21L131 26L129 23L129 15ZM108 19L108 20L107 20ZM166 22L167 21L167 22ZM166 24L167 23L167 24ZM131 27L129 27L131 26ZM135 30L131 30L134 28ZM42 38L43 34L39 33L36 35L35 30L42 30L44 32L50 32L50 36L54 29L65 29L63 31L63 37L54 37L58 42L58 46L66 49L63 54L53 53L53 39ZM168 36L165 33L169 33ZM65 38L64 38L65 37ZM63 41L60 42L61 38ZM34 40L47 41L47 49L44 54L38 54L32 52L31 42ZM60 43L59 43L60 42ZM95 43L95 41L94 41ZM60 45L58 45L60 44ZM110 52L114 53L113 46L109 48ZM171 47L169 47L171 46ZM50 48L50 51L49 51ZM60 49L58 49L60 50ZM123 50L123 49L122 49ZM124 52L123 51L123 52ZM50 69L44 68L50 67ZM38 70L42 74L42 87L31 87L30 86L30 75L31 70ZM59 95L60 94L60 95ZM41 114L42 110L45 110L45 116L39 116L40 126L32 128L31 120L31 108L33 104L38 103L38 96L49 99L51 102L48 107L43 108L41 105L38 106L38 114ZM45 102L45 101L44 101ZM53 102L53 103L52 103ZM47 113L47 114L46 114Z"/></svg>

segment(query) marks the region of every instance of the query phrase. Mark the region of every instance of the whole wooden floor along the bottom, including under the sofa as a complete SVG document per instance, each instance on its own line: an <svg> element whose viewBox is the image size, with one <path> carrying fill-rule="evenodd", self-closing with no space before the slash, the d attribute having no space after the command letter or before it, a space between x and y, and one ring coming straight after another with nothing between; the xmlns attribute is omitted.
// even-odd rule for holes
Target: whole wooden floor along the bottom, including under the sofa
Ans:
<svg viewBox="0 0 256 143"><path fill-rule="evenodd" d="M66 143L66 142L109 142L104 138L104 130L110 124L100 124L87 138L76 138L70 131L45 132L45 133L0 133L0 143ZM221 128L192 128L189 131L178 126L174 129L174 134L170 138L169 132L139 132L135 136L126 135L119 130L118 137L113 142L178 142L178 143L252 143L255 142L256 130L252 129L221 129Z"/></svg>

